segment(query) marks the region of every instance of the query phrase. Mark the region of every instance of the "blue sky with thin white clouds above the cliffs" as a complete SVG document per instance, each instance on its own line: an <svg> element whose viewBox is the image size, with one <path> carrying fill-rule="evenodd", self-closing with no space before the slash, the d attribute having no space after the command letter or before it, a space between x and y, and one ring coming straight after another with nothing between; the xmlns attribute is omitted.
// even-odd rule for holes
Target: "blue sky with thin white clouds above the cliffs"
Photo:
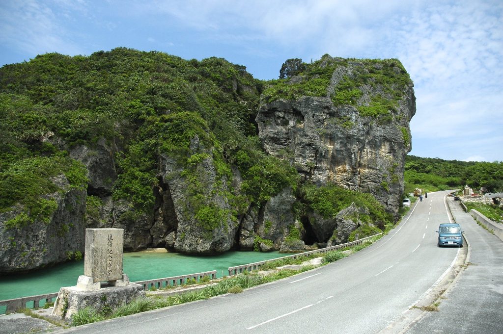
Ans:
<svg viewBox="0 0 503 334"><path fill-rule="evenodd" d="M503 161L501 0L1 0L0 45L0 66L123 46L259 79L289 58L398 58L417 98L410 154Z"/></svg>

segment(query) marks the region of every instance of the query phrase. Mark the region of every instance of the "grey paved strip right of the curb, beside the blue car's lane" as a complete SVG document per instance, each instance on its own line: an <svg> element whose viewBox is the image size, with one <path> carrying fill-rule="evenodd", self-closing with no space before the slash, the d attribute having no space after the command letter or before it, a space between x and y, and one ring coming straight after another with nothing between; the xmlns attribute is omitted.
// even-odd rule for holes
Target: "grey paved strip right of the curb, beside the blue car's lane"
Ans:
<svg viewBox="0 0 503 334"><path fill-rule="evenodd" d="M449 198L456 222L470 243L467 267L440 300L438 312L427 312L408 334L503 333L503 242L478 226Z"/></svg>

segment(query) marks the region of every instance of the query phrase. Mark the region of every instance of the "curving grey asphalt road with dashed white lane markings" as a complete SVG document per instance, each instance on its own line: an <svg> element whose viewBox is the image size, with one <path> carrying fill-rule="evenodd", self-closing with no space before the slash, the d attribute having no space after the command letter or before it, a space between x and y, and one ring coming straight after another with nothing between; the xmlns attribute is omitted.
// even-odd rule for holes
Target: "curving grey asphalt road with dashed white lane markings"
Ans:
<svg viewBox="0 0 503 334"><path fill-rule="evenodd" d="M423 202L415 202L411 213L388 235L332 264L240 294L58 332L400 332L423 314L412 306L436 300L461 258L460 251L466 250L437 247L438 225L451 221L446 193L430 193Z"/></svg>

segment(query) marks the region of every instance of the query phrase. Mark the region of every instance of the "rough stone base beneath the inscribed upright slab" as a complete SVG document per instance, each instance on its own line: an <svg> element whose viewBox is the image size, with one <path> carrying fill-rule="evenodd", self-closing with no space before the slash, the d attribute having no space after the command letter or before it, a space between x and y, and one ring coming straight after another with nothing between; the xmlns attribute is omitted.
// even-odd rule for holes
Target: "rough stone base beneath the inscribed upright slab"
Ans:
<svg viewBox="0 0 503 334"><path fill-rule="evenodd" d="M122 280L112 281L104 286L101 283L92 283L92 280L90 282L87 278L82 275L76 286L59 289L52 315L71 321L71 316L82 308L91 307L98 312L113 310L145 295L143 286L130 283L127 275L124 275Z"/></svg>

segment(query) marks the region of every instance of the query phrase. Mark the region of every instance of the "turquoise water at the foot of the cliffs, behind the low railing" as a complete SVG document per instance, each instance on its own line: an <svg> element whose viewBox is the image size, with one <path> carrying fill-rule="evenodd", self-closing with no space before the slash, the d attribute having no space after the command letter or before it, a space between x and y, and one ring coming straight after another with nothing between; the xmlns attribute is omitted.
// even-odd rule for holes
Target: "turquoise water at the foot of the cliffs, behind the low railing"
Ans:
<svg viewBox="0 0 503 334"><path fill-rule="evenodd" d="M215 256L190 256L167 252L124 253L124 273L132 282L217 271L228 275L228 267L285 256L279 252L225 252ZM84 261L71 261L25 275L0 277L0 300L58 292L60 287L77 284Z"/></svg>

